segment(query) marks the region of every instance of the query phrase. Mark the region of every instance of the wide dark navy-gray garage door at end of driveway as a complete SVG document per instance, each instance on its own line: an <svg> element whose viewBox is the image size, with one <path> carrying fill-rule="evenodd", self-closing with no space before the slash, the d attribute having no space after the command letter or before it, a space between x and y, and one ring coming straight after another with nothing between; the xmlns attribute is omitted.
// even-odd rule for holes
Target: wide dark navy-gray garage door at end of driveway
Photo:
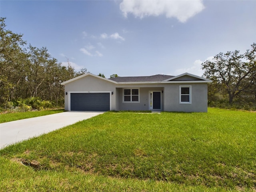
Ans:
<svg viewBox="0 0 256 192"><path fill-rule="evenodd" d="M109 111L110 93L70 93L71 111Z"/></svg>

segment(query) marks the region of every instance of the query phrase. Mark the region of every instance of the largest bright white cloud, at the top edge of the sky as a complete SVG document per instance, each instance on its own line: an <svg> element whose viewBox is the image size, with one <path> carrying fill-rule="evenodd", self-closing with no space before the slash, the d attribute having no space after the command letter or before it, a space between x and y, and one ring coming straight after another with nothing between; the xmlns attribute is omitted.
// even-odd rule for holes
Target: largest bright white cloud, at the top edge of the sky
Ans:
<svg viewBox="0 0 256 192"><path fill-rule="evenodd" d="M123 0L120 3L125 17L128 13L139 18L165 14L166 18L174 17L180 22L186 22L203 9L202 0Z"/></svg>

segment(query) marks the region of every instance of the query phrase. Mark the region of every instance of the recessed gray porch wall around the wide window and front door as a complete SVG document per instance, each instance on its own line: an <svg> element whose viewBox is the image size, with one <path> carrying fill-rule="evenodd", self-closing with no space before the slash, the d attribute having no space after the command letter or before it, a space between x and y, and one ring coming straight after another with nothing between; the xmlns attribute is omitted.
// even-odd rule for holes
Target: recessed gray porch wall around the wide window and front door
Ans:
<svg viewBox="0 0 256 192"><path fill-rule="evenodd" d="M143 86L143 85L140 85ZM145 85L144 85L145 86ZM163 87L134 87L133 88L139 88L140 89L140 102L139 103L124 103L123 102L123 88L117 88L118 90L118 96L117 96L117 104L118 106L117 110L149 110L149 92L150 91L161 91L161 102L162 102L162 108L163 108L163 94L162 90ZM129 88L132 88L129 87Z"/></svg>

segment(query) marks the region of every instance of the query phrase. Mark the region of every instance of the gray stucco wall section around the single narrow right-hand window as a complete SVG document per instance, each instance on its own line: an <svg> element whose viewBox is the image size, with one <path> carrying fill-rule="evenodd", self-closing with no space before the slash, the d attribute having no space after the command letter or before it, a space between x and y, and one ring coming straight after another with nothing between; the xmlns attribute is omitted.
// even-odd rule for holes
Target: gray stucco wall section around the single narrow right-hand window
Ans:
<svg viewBox="0 0 256 192"><path fill-rule="evenodd" d="M191 104L180 104L180 85L191 86ZM207 83L166 84L164 110L177 112L207 112Z"/></svg>

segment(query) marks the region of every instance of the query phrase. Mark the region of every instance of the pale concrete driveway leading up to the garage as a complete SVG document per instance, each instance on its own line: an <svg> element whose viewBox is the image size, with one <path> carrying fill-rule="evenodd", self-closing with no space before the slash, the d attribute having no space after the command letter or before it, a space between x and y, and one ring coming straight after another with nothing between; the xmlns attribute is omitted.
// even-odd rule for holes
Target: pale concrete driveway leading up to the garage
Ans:
<svg viewBox="0 0 256 192"><path fill-rule="evenodd" d="M0 124L0 149L104 112L62 112Z"/></svg>

